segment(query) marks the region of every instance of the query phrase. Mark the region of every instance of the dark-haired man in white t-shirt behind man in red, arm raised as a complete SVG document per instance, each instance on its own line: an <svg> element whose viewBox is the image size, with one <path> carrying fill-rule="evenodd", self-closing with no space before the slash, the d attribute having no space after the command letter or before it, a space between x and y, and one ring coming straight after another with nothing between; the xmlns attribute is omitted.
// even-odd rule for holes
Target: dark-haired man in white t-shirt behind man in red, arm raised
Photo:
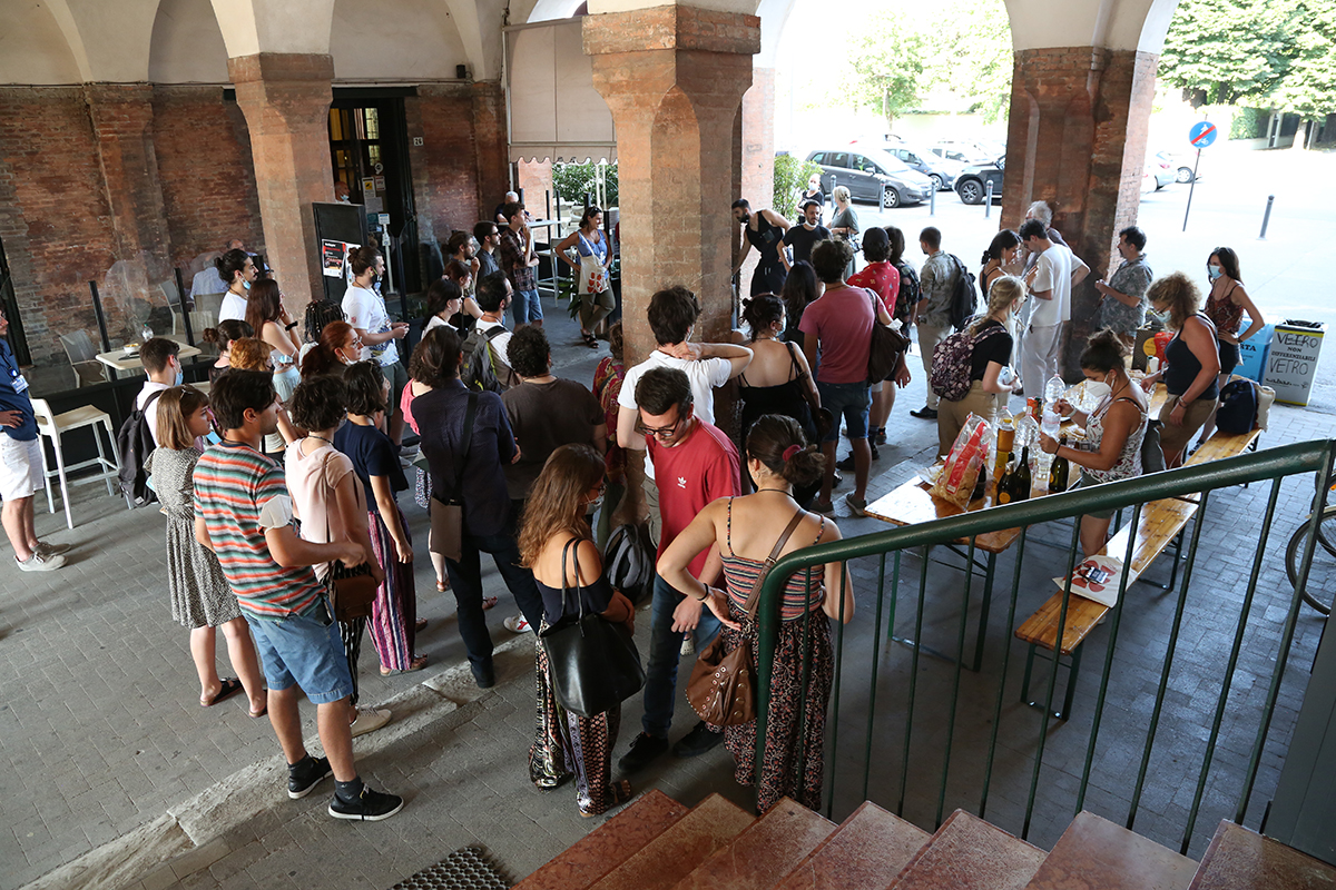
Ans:
<svg viewBox="0 0 1336 890"><path fill-rule="evenodd" d="M645 448L645 436L636 432L640 418L636 384L649 368L677 368L691 383L695 416L715 422L715 390L747 370L752 351L732 343L689 343L700 316L696 295L681 286L659 291L649 298L649 330L659 344L640 364L627 371L617 396L617 444L623 448ZM655 467L645 456L645 500L649 504L649 534L657 544L661 523Z"/></svg>

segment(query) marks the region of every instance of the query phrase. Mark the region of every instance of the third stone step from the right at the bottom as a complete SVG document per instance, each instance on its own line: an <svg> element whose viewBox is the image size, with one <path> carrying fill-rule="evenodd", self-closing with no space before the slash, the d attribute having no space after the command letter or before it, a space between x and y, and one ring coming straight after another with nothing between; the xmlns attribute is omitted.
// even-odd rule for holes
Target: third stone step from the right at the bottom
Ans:
<svg viewBox="0 0 1336 890"><path fill-rule="evenodd" d="M888 886L895 890L1022 890L1043 850L957 810Z"/></svg>

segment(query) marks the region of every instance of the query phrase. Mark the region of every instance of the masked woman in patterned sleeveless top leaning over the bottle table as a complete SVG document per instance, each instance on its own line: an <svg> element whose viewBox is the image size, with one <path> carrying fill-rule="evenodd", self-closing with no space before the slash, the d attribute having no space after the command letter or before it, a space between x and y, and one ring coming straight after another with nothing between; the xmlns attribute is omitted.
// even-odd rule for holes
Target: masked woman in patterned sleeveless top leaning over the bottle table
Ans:
<svg viewBox="0 0 1336 890"><path fill-rule="evenodd" d="M1065 399L1057 402L1058 414L1085 427L1082 447L1039 434L1045 454L1061 455L1081 467L1081 486L1141 475L1141 440L1146 436L1150 406L1146 394L1128 376L1128 346L1116 331L1105 328L1092 334L1081 354L1081 374L1086 380L1109 387L1109 395L1089 415ZM1113 510L1081 516L1081 550L1086 556L1100 552L1108 543L1112 518Z"/></svg>

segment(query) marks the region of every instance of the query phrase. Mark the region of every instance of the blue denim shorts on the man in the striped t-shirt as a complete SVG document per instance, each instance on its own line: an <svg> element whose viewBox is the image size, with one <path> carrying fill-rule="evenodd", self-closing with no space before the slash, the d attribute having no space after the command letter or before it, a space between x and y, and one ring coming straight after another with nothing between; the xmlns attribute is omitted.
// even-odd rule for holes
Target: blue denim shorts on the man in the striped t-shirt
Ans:
<svg viewBox="0 0 1336 890"><path fill-rule="evenodd" d="M271 690L299 686L313 703L329 705L353 694L353 675L347 673L338 622L326 627L317 618L323 606L277 622L246 615L246 623Z"/></svg>

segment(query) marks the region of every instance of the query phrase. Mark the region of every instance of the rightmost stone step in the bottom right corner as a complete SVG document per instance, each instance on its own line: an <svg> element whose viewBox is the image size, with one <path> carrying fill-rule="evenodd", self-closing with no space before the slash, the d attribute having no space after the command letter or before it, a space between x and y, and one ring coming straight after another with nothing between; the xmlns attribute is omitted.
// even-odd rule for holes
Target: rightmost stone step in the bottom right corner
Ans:
<svg viewBox="0 0 1336 890"><path fill-rule="evenodd" d="M1336 867L1256 831L1221 822L1192 890L1332 890Z"/></svg>

